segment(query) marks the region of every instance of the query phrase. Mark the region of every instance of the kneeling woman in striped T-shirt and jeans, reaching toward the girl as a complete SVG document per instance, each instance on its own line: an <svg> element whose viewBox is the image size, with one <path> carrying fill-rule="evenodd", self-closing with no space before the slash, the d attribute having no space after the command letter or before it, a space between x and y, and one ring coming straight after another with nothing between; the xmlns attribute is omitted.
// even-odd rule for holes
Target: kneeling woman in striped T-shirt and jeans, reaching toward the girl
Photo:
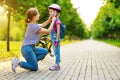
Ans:
<svg viewBox="0 0 120 80"><path fill-rule="evenodd" d="M16 58L12 59L12 70L15 72L17 66L31 71L38 70L38 61L42 60L48 51L44 48L36 47L35 45L39 42L39 34L48 34L52 31L56 18L50 15L50 18L43 24L37 24L39 20L39 12L36 8L30 8L27 12L27 29L23 40L21 52L25 61L18 61ZM52 22L51 22L52 18ZM44 29L47 24L51 22L48 29Z"/></svg>

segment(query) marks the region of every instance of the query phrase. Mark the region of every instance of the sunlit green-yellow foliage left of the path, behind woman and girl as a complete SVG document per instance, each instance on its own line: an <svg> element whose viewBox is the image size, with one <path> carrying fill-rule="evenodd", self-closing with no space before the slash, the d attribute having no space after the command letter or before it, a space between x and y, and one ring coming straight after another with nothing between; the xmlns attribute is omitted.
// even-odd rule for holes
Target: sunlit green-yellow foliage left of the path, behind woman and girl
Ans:
<svg viewBox="0 0 120 80"><path fill-rule="evenodd" d="M89 37L85 24L76 9L73 8L70 0L0 0L0 5L12 12L10 40L19 41L23 39L26 29L24 20L27 9L30 7L38 8L40 12L40 20L38 23L42 23L48 19L48 6L53 3L59 4L62 8L60 19L67 26L66 35L69 39ZM0 20L0 23L2 23L2 20ZM0 35L2 35L1 40L6 40L6 23L7 20L5 20L3 27L0 28Z"/></svg>

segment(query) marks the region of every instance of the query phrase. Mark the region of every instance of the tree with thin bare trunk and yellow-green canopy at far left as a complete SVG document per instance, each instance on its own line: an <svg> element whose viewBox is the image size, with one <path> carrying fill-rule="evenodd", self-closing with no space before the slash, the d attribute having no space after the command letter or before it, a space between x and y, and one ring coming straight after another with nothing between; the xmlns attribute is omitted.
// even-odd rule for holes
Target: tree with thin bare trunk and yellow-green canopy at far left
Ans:
<svg viewBox="0 0 120 80"><path fill-rule="evenodd" d="M36 7L38 3L40 3L40 1L39 0L33 0L33 1L27 0L26 2L24 2L24 0L20 0L20 1L19 0L0 0L0 3L1 3L0 5L2 5L8 11L7 51L10 51L10 46L9 46L10 35L9 34L10 34L11 16L16 16L22 13L24 14L26 11L26 8Z"/></svg>

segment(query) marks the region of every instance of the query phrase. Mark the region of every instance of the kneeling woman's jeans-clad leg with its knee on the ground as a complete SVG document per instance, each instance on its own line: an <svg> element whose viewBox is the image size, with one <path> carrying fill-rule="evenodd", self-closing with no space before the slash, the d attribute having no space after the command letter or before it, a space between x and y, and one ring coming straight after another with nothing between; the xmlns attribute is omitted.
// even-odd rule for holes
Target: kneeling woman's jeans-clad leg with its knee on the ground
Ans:
<svg viewBox="0 0 120 80"><path fill-rule="evenodd" d="M22 55L27 62L21 61L20 66L31 71L36 71L38 70L38 63L33 48L33 46L22 46Z"/></svg>

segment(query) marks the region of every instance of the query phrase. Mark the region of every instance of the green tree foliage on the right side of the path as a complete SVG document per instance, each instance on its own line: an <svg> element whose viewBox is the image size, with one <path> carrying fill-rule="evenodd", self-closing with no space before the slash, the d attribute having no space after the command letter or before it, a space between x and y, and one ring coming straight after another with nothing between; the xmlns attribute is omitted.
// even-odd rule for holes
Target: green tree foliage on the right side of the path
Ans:
<svg viewBox="0 0 120 80"><path fill-rule="evenodd" d="M94 20L91 30L94 38L120 39L119 0L107 0L106 5L101 7L98 16Z"/></svg>

